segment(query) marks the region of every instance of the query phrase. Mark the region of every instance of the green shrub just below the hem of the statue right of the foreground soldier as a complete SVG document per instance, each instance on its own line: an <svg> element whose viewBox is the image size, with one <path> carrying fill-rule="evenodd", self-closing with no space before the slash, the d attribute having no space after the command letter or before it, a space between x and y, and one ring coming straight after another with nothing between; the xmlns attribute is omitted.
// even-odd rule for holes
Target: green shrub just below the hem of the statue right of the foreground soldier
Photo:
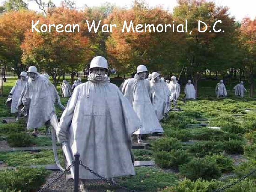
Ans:
<svg viewBox="0 0 256 192"><path fill-rule="evenodd" d="M155 140L152 143L152 149L154 152L167 151L170 152L172 149L181 149L182 145L176 138L164 137Z"/></svg>

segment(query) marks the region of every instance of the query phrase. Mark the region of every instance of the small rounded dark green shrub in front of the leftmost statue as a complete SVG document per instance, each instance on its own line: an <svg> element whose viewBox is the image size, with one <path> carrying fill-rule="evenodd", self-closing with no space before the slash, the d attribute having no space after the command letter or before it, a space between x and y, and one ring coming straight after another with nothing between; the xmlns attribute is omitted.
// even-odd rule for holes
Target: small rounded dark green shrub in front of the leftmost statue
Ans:
<svg viewBox="0 0 256 192"><path fill-rule="evenodd" d="M12 133L7 137L7 143L10 145L10 147L31 146L34 144L34 137L24 132Z"/></svg>

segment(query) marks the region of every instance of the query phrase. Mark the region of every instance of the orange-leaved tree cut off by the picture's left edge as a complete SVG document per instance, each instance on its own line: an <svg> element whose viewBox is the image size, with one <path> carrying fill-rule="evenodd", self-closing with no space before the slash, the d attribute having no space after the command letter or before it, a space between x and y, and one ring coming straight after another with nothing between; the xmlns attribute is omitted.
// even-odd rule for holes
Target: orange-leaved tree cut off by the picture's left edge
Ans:
<svg viewBox="0 0 256 192"><path fill-rule="evenodd" d="M9 63L9 67L14 68L17 75L26 67L21 62L20 47L25 39L25 32L31 28L31 21L39 17L28 10L8 11L0 15L0 55Z"/></svg>

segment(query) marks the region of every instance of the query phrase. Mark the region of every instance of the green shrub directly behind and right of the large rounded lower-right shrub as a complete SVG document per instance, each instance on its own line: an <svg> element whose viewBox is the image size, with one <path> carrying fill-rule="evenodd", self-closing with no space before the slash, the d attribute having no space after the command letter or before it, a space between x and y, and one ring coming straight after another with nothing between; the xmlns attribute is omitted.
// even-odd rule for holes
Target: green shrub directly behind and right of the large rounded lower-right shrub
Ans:
<svg viewBox="0 0 256 192"><path fill-rule="evenodd" d="M214 154L212 156L205 156L204 158L216 164L222 173L228 173L234 170L233 159L227 156Z"/></svg>

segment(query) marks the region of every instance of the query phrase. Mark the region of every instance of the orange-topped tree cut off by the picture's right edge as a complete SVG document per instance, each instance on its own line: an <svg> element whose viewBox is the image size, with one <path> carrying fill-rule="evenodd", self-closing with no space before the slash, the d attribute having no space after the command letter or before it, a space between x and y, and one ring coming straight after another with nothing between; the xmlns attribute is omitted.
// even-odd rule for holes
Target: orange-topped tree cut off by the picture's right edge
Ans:
<svg viewBox="0 0 256 192"><path fill-rule="evenodd" d="M244 18L240 28L240 42L244 50L243 65L249 77L250 96L252 97L256 73L256 18L254 20L250 20L248 17Z"/></svg>

